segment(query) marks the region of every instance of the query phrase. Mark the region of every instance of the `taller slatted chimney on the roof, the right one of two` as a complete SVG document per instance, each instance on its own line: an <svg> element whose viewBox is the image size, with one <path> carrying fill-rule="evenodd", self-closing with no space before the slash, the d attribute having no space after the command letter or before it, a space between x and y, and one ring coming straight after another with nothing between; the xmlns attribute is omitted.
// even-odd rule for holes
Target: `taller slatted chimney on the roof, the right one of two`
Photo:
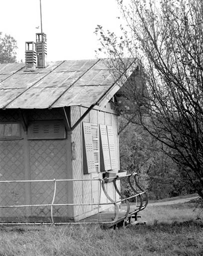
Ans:
<svg viewBox="0 0 203 256"><path fill-rule="evenodd" d="M46 66L46 34L36 33L36 55L37 65L36 67Z"/></svg>

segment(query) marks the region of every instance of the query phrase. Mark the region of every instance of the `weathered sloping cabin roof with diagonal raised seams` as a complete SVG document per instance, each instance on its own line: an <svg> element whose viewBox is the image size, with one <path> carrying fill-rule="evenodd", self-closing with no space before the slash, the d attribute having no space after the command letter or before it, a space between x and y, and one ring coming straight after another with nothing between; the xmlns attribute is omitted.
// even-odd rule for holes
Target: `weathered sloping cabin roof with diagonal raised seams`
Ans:
<svg viewBox="0 0 203 256"><path fill-rule="evenodd" d="M24 63L0 64L0 108L104 105L120 88L106 61L55 61L32 72ZM133 68L131 61L128 72Z"/></svg>

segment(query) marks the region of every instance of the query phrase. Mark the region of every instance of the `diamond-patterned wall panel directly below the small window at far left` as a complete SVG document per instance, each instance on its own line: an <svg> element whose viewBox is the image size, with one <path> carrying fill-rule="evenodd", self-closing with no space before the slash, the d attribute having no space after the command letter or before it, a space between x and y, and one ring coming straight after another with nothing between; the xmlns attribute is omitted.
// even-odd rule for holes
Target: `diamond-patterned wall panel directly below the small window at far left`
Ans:
<svg viewBox="0 0 203 256"><path fill-rule="evenodd" d="M0 180L24 179L23 140L0 141ZM0 183L0 205L25 204L24 183ZM25 215L25 208L0 208L0 215Z"/></svg>

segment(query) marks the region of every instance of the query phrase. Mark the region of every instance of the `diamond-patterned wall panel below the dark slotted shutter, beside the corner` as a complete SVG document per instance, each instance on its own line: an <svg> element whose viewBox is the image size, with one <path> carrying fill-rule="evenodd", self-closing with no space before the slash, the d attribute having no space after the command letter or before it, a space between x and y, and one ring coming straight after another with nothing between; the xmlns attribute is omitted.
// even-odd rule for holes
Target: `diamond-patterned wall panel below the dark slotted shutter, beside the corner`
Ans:
<svg viewBox="0 0 203 256"><path fill-rule="evenodd" d="M30 140L31 179L66 179L66 140ZM54 182L31 183L31 203L51 203ZM56 183L54 203L67 203L67 182ZM67 216L67 207L53 207L54 216ZM50 206L32 207L32 216L50 216Z"/></svg>

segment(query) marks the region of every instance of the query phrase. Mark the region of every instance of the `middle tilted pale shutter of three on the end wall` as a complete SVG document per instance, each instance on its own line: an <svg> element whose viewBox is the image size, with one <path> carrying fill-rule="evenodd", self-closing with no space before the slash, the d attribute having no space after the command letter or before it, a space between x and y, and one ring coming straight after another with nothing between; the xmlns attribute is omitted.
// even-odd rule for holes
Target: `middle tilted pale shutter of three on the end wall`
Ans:
<svg viewBox="0 0 203 256"><path fill-rule="evenodd" d="M100 140L101 140L101 171L111 169L110 153L109 153L109 143L106 125L100 124Z"/></svg>

